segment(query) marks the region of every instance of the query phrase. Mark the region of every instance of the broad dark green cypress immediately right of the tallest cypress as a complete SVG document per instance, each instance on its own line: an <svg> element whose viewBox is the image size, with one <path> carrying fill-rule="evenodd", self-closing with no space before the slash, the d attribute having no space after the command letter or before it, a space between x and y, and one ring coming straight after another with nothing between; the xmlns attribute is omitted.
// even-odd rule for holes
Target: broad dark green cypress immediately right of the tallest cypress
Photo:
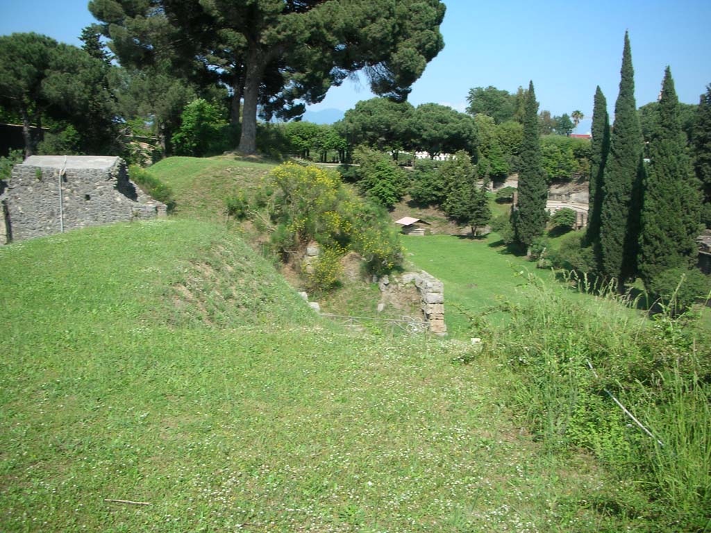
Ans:
<svg viewBox="0 0 711 533"><path fill-rule="evenodd" d="M679 100L666 68L649 143L643 186L639 273L645 284L663 271L693 266L697 259L701 198L679 120Z"/></svg>

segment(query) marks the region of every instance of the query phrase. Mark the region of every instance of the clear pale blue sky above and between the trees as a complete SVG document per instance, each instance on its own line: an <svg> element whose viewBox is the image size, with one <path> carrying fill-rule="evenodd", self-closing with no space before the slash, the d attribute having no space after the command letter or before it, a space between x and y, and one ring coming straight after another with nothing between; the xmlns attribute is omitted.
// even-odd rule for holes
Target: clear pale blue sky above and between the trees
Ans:
<svg viewBox="0 0 711 533"><path fill-rule="evenodd" d="M610 112L619 86L625 30L629 30L636 99L656 99L666 65L679 99L698 103L711 83L711 1L445 0L445 48L412 87L410 102L438 102L464 110L471 87L515 92L533 80L542 109L592 114L600 85ZM0 0L0 34L45 33L79 45L92 23L85 0ZM332 88L311 110L346 110L372 97L365 80ZM585 121L587 122L587 121ZM587 124L581 124L581 131Z"/></svg>

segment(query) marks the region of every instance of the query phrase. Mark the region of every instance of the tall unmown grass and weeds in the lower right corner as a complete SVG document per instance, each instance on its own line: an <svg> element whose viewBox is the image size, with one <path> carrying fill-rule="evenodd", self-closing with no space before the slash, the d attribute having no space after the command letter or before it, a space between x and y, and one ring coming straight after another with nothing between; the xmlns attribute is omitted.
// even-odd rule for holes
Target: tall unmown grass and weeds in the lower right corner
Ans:
<svg viewBox="0 0 711 533"><path fill-rule="evenodd" d="M585 306L533 276L524 290L492 350L518 377L514 401L535 436L641 485L658 524L707 530L711 350L695 318L641 318L614 287Z"/></svg>

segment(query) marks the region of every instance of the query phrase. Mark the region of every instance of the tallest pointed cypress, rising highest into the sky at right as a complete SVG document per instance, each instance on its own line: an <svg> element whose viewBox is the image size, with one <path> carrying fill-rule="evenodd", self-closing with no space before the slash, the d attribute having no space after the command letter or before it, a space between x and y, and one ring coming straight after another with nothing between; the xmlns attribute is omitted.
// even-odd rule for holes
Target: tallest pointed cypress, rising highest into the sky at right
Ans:
<svg viewBox="0 0 711 533"><path fill-rule="evenodd" d="M624 35L620 92L615 102L615 122L605 164L600 213L602 271L619 281L636 274L641 203L642 129L634 99L634 69L629 35Z"/></svg>

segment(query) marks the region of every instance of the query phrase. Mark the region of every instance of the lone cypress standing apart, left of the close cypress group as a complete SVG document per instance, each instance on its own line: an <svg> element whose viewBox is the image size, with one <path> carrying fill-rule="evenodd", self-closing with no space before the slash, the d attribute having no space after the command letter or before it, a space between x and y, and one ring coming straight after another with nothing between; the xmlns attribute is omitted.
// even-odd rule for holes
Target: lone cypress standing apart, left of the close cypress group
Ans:
<svg viewBox="0 0 711 533"><path fill-rule="evenodd" d="M538 132L538 102L535 101L533 81L528 85L523 117L521 166L518 173L518 205L513 212L515 240L529 250L533 239L545 230L545 202L548 188L543 169L540 134Z"/></svg>

